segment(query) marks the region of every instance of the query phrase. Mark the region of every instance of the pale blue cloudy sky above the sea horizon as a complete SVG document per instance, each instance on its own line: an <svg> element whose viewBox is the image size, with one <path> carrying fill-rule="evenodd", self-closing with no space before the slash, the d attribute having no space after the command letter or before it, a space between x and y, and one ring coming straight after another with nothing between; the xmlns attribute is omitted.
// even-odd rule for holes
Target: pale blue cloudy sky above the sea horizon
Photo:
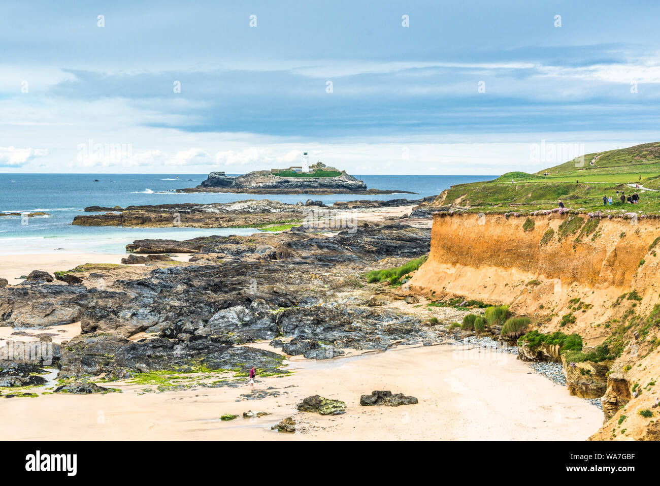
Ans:
<svg viewBox="0 0 660 486"><path fill-rule="evenodd" d="M656 1L13 1L0 172L535 172L660 141ZM566 150L552 150L566 155ZM558 156L557 156L558 157Z"/></svg>

